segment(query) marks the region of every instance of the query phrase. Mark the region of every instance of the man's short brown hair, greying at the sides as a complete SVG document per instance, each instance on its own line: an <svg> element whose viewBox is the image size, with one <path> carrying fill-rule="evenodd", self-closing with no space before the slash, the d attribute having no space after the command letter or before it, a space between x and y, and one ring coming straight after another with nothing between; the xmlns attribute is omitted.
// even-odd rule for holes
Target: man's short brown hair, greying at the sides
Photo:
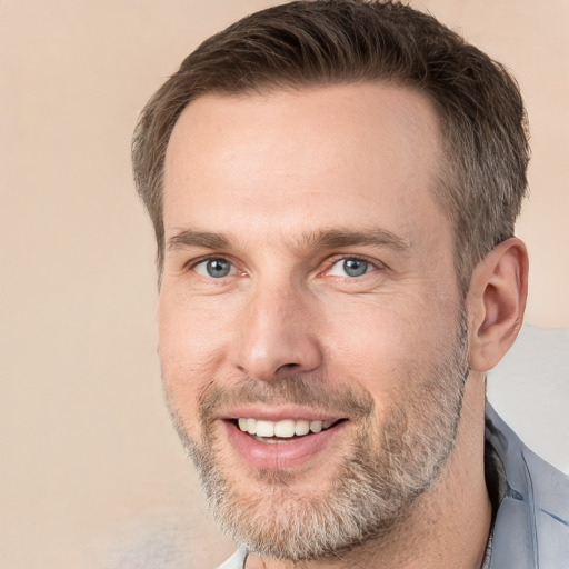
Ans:
<svg viewBox="0 0 569 569"><path fill-rule="evenodd" d="M457 278L513 234L526 194L526 112L513 78L431 16L396 1L296 1L253 13L204 41L144 107L134 181L163 262L162 174L173 126L204 94L387 81L423 93L442 131L437 198L453 224Z"/></svg>

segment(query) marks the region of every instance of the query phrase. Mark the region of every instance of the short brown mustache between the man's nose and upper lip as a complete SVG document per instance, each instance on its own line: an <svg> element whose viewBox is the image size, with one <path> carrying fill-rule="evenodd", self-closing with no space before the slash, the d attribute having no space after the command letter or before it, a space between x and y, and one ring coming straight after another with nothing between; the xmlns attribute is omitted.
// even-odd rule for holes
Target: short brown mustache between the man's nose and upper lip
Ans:
<svg viewBox="0 0 569 569"><path fill-rule="evenodd" d="M219 408L243 403L292 403L350 418L369 417L375 409L371 395L361 388L331 387L316 378L300 375L282 376L271 381L247 377L238 382L228 383L227 380L213 380L202 389L198 398L202 420L212 417Z"/></svg>

